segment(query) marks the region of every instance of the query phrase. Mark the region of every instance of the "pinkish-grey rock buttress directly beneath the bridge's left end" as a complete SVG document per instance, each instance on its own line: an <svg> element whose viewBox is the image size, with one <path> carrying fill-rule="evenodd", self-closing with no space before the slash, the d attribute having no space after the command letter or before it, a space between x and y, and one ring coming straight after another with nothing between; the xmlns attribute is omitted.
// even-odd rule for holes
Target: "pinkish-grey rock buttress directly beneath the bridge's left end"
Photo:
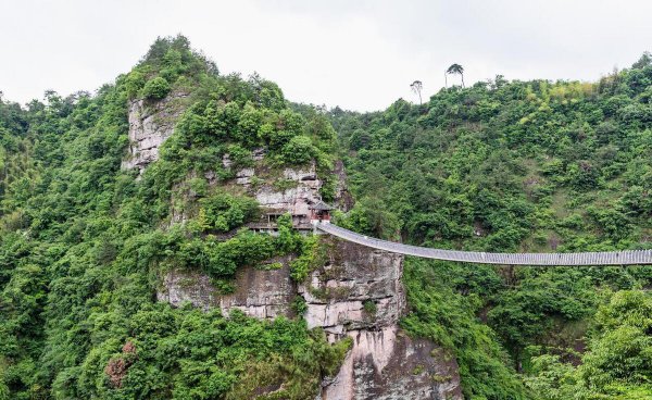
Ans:
<svg viewBox="0 0 652 400"><path fill-rule="evenodd" d="M309 327L323 327L330 341L351 337L353 347L339 373L324 379L317 399L462 399L454 359L398 326L405 311L403 257L324 240L330 260L299 287L308 305L304 317Z"/></svg>

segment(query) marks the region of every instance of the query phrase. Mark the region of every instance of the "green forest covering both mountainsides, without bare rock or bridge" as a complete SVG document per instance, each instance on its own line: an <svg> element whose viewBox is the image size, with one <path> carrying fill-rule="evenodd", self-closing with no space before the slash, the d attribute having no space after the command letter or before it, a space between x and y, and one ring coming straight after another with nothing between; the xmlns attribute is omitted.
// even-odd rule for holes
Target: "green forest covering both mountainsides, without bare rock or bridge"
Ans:
<svg viewBox="0 0 652 400"><path fill-rule="evenodd" d="M170 99L183 111L165 114L174 134L146 168L125 167L130 114ZM310 166L335 201L338 160L355 205L335 222L366 235L485 251L650 249L652 63L594 84L499 76L360 114L221 75L179 36L95 95L0 99L0 399L314 399L351 341L309 329L302 298L294 317L259 320L156 295L175 268L230 293L238 271L280 257L304 283L329 248L288 215L276 236L248 229L263 210L238 170L255 163L264 175L247 185L283 192L294 185L285 168ZM409 258L403 282L401 326L449 352L465 398L652 397L649 266Z"/></svg>

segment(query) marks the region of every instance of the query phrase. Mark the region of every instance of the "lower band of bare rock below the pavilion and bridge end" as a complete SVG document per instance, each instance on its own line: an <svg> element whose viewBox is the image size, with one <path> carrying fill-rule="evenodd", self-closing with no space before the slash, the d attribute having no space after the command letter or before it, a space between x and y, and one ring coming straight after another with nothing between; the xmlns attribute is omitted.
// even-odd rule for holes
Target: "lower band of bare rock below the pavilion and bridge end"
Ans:
<svg viewBox="0 0 652 400"><path fill-rule="evenodd" d="M268 261L280 262L279 270L240 268L229 296L220 296L204 275L171 272L158 298L274 318L292 316L290 304L302 296L309 327L324 328L329 341L353 339L340 371L324 379L316 399L462 399L454 358L428 340L411 339L398 326L405 310L403 257L334 237L322 240L328 260L303 285L290 278L291 258L286 257Z"/></svg>

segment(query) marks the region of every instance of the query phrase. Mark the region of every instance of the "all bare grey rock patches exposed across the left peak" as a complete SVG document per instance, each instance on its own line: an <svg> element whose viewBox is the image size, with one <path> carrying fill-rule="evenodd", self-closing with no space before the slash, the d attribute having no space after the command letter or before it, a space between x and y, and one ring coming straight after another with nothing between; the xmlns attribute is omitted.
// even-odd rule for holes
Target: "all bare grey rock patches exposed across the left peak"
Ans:
<svg viewBox="0 0 652 400"><path fill-rule="evenodd" d="M174 132L183 111L183 93L129 107L129 154L124 168L145 167L158 160L161 145ZM319 199L322 180L315 166L286 168L271 174L264 163L265 149L252 152L253 165L234 172L233 184L240 186L271 212L290 212L304 223L311 202ZM222 164L233 168L226 154ZM336 203L349 209L352 199L347 191L341 162L336 164ZM214 173L206 174L216 185ZM186 210L173 221L183 223ZM405 311L401 282L403 258L379 250L322 237L326 261L312 271L305 283L290 278L291 257L268 260L280 264L277 270L240 268L234 283L235 292L223 295L210 278L196 271L173 270L163 273L156 293L159 301L178 307L190 302L208 310L220 308L228 315L240 310L260 318L296 317L292 303L305 302L309 327L319 327L335 342L351 337L352 348L334 377L322 384L318 400L366 399L462 399L460 377L454 358L432 342L412 339L399 327Z"/></svg>

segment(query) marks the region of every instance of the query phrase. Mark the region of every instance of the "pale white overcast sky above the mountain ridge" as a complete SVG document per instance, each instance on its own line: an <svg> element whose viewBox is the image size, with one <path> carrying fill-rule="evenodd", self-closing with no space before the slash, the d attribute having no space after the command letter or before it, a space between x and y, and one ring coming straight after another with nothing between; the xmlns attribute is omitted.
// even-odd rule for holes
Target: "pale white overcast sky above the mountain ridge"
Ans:
<svg viewBox="0 0 652 400"><path fill-rule="evenodd" d="M0 90L92 91L181 33L222 73L258 71L290 100L381 110L416 101L415 79L427 99L454 62L467 85L598 79L652 50L650 15L650 0L0 0Z"/></svg>

